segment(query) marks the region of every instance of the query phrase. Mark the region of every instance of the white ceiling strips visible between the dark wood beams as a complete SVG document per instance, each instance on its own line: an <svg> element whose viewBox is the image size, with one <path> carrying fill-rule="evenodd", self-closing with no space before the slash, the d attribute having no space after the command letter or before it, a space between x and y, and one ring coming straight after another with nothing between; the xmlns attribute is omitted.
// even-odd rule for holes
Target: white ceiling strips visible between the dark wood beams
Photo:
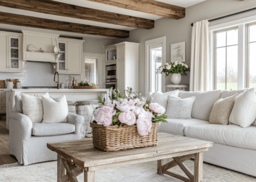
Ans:
<svg viewBox="0 0 256 182"><path fill-rule="evenodd" d="M137 17L146 18L146 19L156 20L156 19L162 18L161 16L155 16L155 15L151 15L151 14L147 14L147 13L135 12L132 10L126 10L123 8L113 7L110 5L104 5L104 4L86 1L86 0L76 0L76 1L74 1L74 0L72 0L72 1L70 1L70 0L54 0L54 1L64 2L67 4L73 4L73 5L79 5L82 7L94 8L94 9L98 9L98 10L104 10L107 12L120 13L123 15L137 16ZM168 4L172 4L172 5L178 5L180 7L186 8L191 5L198 4L198 3L206 1L206 0L157 0L157 1L165 2ZM1 7L1 6L0 6L0 12L15 13L18 15L34 16L34 17L38 17L38 18L54 19L54 20L59 20L59 21L75 22L75 23L79 23L79 24L94 25L94 26L99 26L99 27L108 27L108 28L112 28L112 29L121 29L121 30L135 29L132 27L125 27L125 26L121 26L121 25L106 24L106 23L102 23L102 22L87 21L87 20L76 19L76 18L68 18L65 16L48 15L48 14L37 13L37 12L29 12L26 10L19 10L19 9L7 8L7 7ZM32 31L36 31L36 32L49 32L49 33L55 32L60 35L69 35L69 36L83 36L83 37L90 37L90 38L108 38L108 37L96 36L96 35L83 35L83 34L78 34L78 33L67 33L67 32L60 32L60 31L54 31L54 30L41 30L41 29L35 29L35 28L29 28L29 27L19 27L19 26L15 26L15 25L0 24L0 26L1 26L1 29L32 30Z"/></svg>

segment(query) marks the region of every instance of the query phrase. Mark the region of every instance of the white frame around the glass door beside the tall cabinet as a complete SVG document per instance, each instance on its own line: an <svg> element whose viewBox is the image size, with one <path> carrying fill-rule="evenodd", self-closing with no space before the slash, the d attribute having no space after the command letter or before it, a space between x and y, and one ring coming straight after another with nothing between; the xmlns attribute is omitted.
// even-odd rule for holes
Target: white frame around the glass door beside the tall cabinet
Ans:
<svg viewBox="0 0 256 182"><path fill-rule="evenodd" d="M145 41L145 96L148 96L149 93L149 46L155 44L163 44L162 66L164 66L166 62L166 36ZM162 92L165 92L165 76L163 76L162 79L162 86L164 86Z"/></svg>

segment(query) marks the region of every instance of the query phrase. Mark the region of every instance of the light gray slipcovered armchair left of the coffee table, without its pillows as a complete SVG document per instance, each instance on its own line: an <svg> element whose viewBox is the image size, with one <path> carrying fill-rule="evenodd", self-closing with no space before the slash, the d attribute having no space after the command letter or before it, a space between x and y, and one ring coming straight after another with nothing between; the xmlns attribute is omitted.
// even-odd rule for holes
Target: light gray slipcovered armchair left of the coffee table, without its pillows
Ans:
<svg viewBox="0 0 256 182"><path fill-rule="evenodd" d="M21 101L16 100L9 115L9 151L24 166L57 160L57 153L49 150L47 143L82 138L82 116L68 113L67 123L32 123L29 117L18 111L22 108L20 105Z"/></svg>

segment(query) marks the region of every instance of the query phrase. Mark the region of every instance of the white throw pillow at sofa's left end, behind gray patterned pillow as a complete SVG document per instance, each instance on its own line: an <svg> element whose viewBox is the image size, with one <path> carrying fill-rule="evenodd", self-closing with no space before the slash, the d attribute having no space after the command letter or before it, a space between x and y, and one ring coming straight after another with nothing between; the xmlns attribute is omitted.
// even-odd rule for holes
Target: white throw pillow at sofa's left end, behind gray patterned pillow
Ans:
<svg viewBox="0 0 256 182"><path fill-rule="evenodd" d="M165 109L167 108L167 99L168 99L168 95L172 95L172 96L179 96L179 90L173 90L171 92L155 92L154 93L154 98L152 99L152 103L158 103L161 106L165 107Z"/></svg>

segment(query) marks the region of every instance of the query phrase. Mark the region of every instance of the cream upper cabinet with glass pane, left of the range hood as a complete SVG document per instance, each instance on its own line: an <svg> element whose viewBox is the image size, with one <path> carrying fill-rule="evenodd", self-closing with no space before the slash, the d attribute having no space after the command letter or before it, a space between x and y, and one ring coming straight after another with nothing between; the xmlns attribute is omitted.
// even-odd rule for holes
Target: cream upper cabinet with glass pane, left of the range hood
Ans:
<svg viewBox="0 0 256 182"><path fill-rule="evenodd" d="M22 41L21 33L0 32L0 72L23 72Z"/></svg>

